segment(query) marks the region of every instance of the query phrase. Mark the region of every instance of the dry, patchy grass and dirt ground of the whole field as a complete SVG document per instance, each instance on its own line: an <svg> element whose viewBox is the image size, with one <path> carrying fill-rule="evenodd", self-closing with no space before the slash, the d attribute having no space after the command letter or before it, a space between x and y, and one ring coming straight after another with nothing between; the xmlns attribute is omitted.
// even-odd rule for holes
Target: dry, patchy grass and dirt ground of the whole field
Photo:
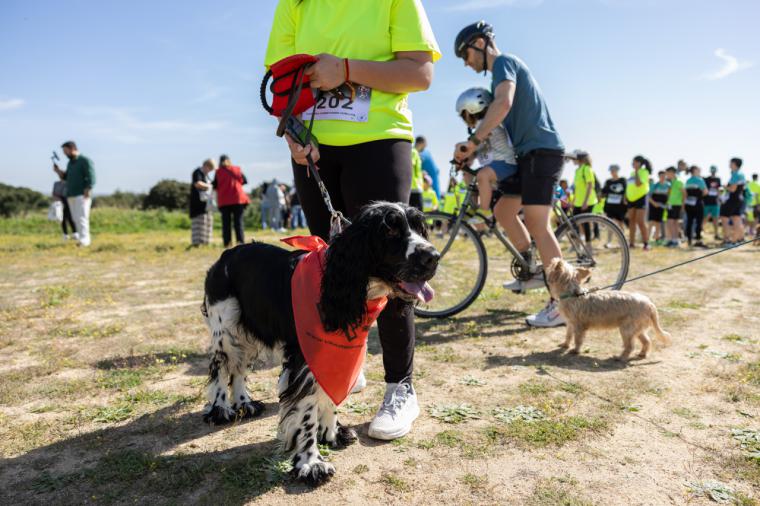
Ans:
<svg viewBox="0 0 760 506"><path fill-rule="evenodd" d="M528 330L523 319L545 294L504 293L506 258L489 244L491 275L474 306L418 321L423 413L412 433L366 436L384 391L373 331L369 386L340 408L360 441L323 450L337 474L311 491L290 480L277 450L277 368L248 378L262 418L201 421L199 306L220 247L187 250L189 230L96 230L78 249L46 225L22 225L13 227L24 234L0 226L0 504L760 499L756 246L631 285L658 305L673 345L626 366L611 359L616 332L591 333L582 355L567 356L563 329ZM631 275L699 253L636 250Z"/></svg>

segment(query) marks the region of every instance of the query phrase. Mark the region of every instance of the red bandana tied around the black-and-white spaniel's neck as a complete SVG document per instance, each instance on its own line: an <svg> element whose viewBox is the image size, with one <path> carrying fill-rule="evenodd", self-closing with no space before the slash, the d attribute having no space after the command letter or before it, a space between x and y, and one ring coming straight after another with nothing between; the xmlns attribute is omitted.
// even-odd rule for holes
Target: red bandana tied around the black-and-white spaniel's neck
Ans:
<svg viewBox="0 0 760 506"><path fill-rule="evenodd" d="M289 237L282 242L309 252L299 260L290 281L296 334L317 383L339 405L348 397L359 376L369 328L385 308L388 298L367 301L364 320L352 329L350 335L341 331L327 332L317 307L322 293L327 243L317 236Z"/></svg>

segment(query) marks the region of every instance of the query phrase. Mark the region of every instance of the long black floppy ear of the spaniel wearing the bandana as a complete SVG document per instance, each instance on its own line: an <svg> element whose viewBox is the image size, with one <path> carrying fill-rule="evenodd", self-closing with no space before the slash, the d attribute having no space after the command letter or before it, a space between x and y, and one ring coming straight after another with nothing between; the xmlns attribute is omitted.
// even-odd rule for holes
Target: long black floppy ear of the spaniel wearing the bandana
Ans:
<svg viewBox="0 0 760 506"><path fill-rule="evenodd" d="M367 230L354 223L338 234L327 250L319 308L325 330L348 333L364 318L372 248Z"/></svg>

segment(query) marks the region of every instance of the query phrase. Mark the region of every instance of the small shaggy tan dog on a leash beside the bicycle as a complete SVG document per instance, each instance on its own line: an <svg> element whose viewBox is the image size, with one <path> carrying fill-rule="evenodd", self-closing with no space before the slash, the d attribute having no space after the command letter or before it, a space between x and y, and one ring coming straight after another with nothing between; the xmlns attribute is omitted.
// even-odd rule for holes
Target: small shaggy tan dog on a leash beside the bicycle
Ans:
<svg viewBox="0 0 760 506"><path fill-rule="evenodd" d="M633 340L641 341L639 358L645 358L652 340L647 330L652 327L663 344L670 344L670 334L660 327L657 308L646 295L619 291L599 291L586 293L581 285L585 283L591 270L575 269L562 259L556 258L546 270L546 282L556 300L559 300L559 312L567 323L567 337L560 346L570 347L570 340L575 347L570 353L580 353L586 331L593 328L620 329L623 338L623 353L619 360L628 360L633 351Z"/></svg>

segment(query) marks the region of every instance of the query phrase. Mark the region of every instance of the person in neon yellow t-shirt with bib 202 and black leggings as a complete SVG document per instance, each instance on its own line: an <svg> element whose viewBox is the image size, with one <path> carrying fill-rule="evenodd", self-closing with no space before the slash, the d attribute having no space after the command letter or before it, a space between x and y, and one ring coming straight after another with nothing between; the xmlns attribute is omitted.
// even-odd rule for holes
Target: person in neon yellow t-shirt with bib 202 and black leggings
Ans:
<svg viewBox="0 0 760 506"><path fill-rule="evenodd" d="M308 177L307 155L319 164L336 209L349 219L371 201L408 202L414 140L408 96L430 86L441 52L419 0L279 0L264 63L302 53L318 58L305 72L312 89L348 83L354 90L303 113L314 117L319 146L301 147L286 135L309 229L327 240L330 214ZM393 299L377 323L386 392L368 434L396 439L419 416L412 387L414 312ZM364 385L360 375L354 390Z"/></svg>

